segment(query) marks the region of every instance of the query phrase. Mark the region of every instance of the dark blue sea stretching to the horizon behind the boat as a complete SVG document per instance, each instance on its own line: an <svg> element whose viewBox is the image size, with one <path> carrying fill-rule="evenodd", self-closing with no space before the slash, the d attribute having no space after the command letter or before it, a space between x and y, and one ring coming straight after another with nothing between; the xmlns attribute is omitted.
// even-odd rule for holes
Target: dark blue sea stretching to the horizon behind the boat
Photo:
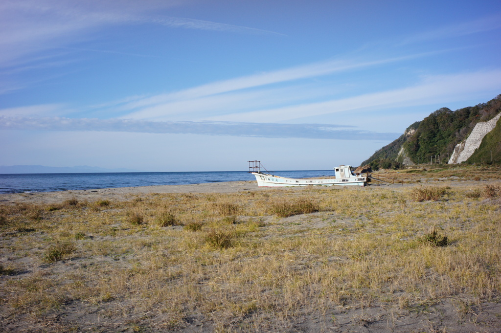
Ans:
<svg viewBox="0 0 501 333"><path fill-rule="evenodd" d="M275 175L291 178L334 176L334 170L276 171ZM256 178L246 171L0 174L0 193L201 184L238 180L256 180Z"/></svg>

